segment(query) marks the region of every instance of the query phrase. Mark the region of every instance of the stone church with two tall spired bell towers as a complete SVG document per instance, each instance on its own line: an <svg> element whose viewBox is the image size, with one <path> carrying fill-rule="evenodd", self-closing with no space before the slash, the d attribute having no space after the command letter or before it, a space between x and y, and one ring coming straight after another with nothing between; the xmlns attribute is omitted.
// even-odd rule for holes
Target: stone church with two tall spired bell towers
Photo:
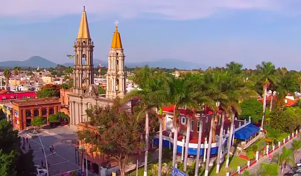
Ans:
<svg viewBox="0 0 301 176"><path fill-rule="evenodd" d="M108 71L106 73L106 94L98 94L98 86L94 84L93 50L94 42L91 39L85 7L82 11L78 35L74 42L74 84L73 93L69 94L70 124L78 125L88 121L85 110L110 106L116 97L122 98L126 93L126 71L124 70L124 53L118 32L118 21L115 22L115 31L111 48L108 54ZM83 87L83 84L87 85ZM130 102L129 102L130 103ZM131 104L126 104L131 108ZM127 108L127 107L125 107Z"/></svg>

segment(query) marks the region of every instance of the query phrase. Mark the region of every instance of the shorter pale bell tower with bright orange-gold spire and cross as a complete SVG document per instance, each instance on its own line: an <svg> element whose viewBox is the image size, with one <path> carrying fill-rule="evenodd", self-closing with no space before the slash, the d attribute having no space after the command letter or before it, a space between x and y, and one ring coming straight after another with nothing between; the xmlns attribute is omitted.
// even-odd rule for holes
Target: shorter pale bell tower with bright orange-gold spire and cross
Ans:
<svg viewBox="0 0 301 176"><path fill-rule="evenodd" d="M122 98L126 93L126 71L124 70L124 53L118 32L118 20L115 22L115 32L108 56L108 71L106 73L106 98Z"/></svg>

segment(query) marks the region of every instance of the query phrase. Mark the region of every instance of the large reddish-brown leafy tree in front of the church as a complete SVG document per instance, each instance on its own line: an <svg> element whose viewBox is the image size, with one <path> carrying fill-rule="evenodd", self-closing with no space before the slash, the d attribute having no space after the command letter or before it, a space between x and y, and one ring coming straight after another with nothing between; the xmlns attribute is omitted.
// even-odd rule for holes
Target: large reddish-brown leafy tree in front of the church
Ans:
<svg viewBox="0 0 301 176"><path fill-rule="evenodd" d="M100 151L116 161L121 176L124 176L125 164L130 156L143 150L145 141L140 136L145 134L145 119L136 116L135 112L131 115L123 111L118 102L112 107L96 107L86 112L90 122L98 126L98 132L78 131L78 138L84 140L84 143L93 144L95 151Z"/></svg>

